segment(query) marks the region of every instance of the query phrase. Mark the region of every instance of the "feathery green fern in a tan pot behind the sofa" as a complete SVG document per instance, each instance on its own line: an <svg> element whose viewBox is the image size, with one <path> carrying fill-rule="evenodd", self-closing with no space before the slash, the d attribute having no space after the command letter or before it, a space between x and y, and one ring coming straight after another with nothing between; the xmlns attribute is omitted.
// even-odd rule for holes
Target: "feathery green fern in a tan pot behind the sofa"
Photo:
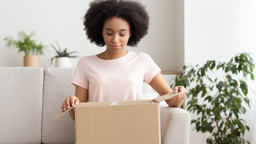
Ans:
<svg viewBox="0 0 256 144"><path fill-rule="evenodd" d="M7 47L18 48L18 52L24 52L24 66L40 67L40 55L44 54L44 48L46 46L36 44L36 40L32 40L32 36L35 34L32 31L30 34L26 34L24 31L19 31L19 39L14 40L13 37L4 38L7 41Z"/></svg>

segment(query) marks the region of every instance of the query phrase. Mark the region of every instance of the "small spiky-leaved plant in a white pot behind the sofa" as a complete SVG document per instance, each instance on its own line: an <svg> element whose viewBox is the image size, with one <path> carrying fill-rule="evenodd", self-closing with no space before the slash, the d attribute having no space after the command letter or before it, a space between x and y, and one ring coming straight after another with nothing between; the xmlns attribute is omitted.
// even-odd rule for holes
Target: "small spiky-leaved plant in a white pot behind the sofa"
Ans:
<svg viewBox="0 0 256 144"><path fill-rule="evenodd" d="M68 52L67 48L65 48L64 50L62 50L58 44L58 42L56 41L56 44L58 46L58 50L55 46L53 46L51 44L51 46L54 48L56 56L52 57L51 60L51 64L53 59L55 60L55 67L71 67L71 60L70 58L76 58L78 57L77 55L70 55L72 53L77 53L77 52Z"/></svg>

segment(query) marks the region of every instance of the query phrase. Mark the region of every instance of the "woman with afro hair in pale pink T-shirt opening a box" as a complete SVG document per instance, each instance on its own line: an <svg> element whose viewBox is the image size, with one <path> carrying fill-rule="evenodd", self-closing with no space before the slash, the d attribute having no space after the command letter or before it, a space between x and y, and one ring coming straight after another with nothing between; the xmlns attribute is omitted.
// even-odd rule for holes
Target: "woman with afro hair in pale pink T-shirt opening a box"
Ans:
<svg viewBox="0 0 256 144"><path fill-rule="evenodd" d="M72 84L75 96L66 97L62 111L79 102L139 100L143 81L160 96L172 92L151 57L142 52L126 51L137 46L148 33L148 13L140 2L96 0L84 16L84 30L88 39L106 50L79 59ZM174 87L179 96L166 100L170 107L180 107L186 96L183 86ZM69 111L75 120L74 110Z"/></svg>

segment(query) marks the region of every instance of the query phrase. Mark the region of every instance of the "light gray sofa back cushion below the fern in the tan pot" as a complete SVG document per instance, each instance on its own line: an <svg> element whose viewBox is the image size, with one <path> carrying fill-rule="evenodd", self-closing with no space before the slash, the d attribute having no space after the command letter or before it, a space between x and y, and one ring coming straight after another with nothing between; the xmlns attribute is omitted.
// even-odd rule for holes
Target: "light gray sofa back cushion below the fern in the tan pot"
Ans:
<svg viewBox="0 0 256 144"><path fill-rule="evenodd" d="M1 144L40 144L44 70L0 67Z"/></svg>

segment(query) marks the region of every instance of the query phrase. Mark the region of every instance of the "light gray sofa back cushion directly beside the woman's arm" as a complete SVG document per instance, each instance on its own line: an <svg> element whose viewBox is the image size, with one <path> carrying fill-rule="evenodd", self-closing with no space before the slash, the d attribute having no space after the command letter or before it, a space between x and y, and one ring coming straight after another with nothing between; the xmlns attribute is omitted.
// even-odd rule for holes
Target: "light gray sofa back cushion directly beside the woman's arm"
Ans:
<svg viewBox="0 0 256 144"><path fill-rule="evenodd" d="M44 72L43 91L43 122L42 143L43 144L74 144L75 122L68 113L56 119L53 118L61 112L64 99L75 94L75 86L71 80L75 68L46 68Z"/></svg>

